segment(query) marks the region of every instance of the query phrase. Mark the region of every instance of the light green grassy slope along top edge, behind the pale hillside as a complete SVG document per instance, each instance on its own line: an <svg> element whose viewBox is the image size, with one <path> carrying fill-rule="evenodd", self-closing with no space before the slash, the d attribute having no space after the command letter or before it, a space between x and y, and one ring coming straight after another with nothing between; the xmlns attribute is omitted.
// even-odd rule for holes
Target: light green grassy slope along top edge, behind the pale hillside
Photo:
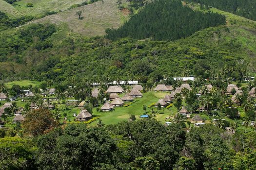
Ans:
<svg viewBox="0 0 256 170"><path fill-rule="evenodd" d="M86 0L20 0L13 4L17 11L23 15L39 16L49 11L67 10L74 4L80 4ZM32 3L33 7L26 7L27 3Z"/></svg>

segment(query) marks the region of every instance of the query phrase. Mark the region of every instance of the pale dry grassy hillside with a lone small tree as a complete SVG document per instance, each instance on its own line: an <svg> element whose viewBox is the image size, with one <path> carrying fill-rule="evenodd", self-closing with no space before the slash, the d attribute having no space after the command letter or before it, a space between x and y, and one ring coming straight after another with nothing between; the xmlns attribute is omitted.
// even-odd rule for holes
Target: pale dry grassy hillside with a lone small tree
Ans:
<svg viewBox="0 0 256 170"><path fill-rule="evenodd" d="M83 19L79 20L76 12L81 10ZM98 1L75 9L47 16L32 23L54 23L67 25L76 33L86 36L100 36L105 34L106 28L118 28L124 19L118 10L115 0L104 0L104 4Z"/></svg>

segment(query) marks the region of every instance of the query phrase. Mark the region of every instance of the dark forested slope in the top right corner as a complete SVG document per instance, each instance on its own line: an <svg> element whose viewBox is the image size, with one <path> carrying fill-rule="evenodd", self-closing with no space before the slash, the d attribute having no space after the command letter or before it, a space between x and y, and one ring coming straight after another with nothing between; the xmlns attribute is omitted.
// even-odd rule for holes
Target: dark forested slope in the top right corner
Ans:
<svg viewBox="0 0 256 170"><path fill-rule="evenodd" d="M256 0L186 0L213 6L238 16L256 20Z"/></svg>

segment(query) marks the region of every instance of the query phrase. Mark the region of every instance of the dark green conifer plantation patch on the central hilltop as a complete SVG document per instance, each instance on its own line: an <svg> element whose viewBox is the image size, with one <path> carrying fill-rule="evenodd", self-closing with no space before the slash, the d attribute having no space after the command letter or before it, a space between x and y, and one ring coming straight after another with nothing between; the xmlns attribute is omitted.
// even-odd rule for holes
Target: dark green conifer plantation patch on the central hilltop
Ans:
<svg viewBox="0 0 256 170"><path fill-rule="evenodd" d="M106 30L106 37L117 39L131 36L135 39L175 40L203 28L225 23L224 16L193 11L178 0L154 0L117 30Z"/></svg>

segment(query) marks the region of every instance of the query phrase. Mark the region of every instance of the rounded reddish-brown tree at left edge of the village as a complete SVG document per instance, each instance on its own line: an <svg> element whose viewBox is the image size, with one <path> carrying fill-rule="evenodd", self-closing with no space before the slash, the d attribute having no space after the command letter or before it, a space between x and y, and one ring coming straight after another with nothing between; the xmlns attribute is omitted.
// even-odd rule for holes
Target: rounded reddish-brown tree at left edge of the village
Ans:
<svg viewBox="0 0 256 170"><path fill-rule="evenodd" d="M57 125L53 114L47 109L32 110L22 123L24 133L32 136L42 135Z"/></svg>

